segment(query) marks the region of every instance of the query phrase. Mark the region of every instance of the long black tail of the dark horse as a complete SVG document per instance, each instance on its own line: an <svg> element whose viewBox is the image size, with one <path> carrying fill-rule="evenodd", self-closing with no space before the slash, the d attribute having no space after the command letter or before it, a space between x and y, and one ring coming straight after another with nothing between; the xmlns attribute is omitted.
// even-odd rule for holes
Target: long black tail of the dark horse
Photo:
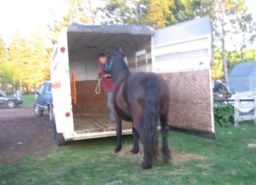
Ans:
<svg viewBox="0 0 256 185"><path fill-rule="evenodd" d="M150 78L144 87L143 147L150 161L158 153L157 124L160 116L160 87L157 79Z"/></svg>

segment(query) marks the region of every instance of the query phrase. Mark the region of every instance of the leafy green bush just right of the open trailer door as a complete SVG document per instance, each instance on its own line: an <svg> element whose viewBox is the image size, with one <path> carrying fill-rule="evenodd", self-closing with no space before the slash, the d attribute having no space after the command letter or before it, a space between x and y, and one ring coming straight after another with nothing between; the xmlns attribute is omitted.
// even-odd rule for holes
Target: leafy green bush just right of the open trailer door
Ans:
<svg viewBox="0 0 256 185"><path fill-rule="evenodd" d="M234 124L234 107L230 103L215 102L217 108L214 109L215 124L222 127L230 127Z"/></svg>

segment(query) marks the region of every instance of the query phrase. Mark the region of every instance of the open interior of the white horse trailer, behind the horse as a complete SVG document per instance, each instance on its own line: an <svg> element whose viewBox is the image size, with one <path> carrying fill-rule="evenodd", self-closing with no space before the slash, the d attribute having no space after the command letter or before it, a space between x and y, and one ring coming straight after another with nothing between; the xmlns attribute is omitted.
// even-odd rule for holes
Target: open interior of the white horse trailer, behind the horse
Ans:
<svg viewBox="0 0 256 185"><path fill-rule="evenodd" d="M72 96L76 93L76 102L72 101L72 108L74 131L77 134L88 133L93 135L91 138L102 132L108 133L105 136L116 134L116 124L105 122L109 119L110 110L102 85L100 94L95 92L98 83L96 76L101 70L97 55L106 54L106 50L118 51L121 48L131 72L150 72L153 33L152 27L139 25L87 26L74 22L68 27L71 81L75 76ZM122 134L131 133L132 122L122 121ZM102 134L98 134L98 137L102 137Z"/></svg>

